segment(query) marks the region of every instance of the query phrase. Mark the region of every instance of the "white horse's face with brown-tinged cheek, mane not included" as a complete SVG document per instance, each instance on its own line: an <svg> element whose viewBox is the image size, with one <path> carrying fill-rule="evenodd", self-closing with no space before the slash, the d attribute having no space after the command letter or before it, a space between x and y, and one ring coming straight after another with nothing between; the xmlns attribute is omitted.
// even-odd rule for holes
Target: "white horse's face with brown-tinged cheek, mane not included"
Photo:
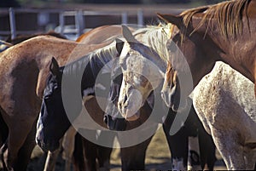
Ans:
<svg viewBox="0 0 256 171"><path fill-rule="evenodd" d="M145 104L148 95L162 83L161 69L165 68L165 64L153 48L138 42L125 26L123 36L126 42L119 59L123 80L118 108L126 120L133 121L140 116L139 109Z"/></svg>

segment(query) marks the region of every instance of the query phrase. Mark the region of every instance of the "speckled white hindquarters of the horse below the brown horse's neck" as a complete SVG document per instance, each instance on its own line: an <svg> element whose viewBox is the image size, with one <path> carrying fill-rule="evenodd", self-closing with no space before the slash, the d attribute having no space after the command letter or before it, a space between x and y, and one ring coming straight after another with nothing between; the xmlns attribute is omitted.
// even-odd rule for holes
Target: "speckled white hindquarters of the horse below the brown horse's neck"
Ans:
<svg viewBox="0 0 256 171"><path fill-rule="evenodd" d="M256 100L252 91L253 83L219 61L193 91L195 111L228 169L253 170L256 163Z"/></svg>

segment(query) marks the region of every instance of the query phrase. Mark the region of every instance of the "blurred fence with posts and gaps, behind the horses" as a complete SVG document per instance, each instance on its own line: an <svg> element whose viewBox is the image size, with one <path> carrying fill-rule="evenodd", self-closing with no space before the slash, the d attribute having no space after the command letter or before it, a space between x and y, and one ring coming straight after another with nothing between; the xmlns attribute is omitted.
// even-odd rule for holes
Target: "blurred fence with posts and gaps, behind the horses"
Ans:
<svg viewBox="0 0 256 171"><path fill-rule="evenodd" d="M0 9L0 36L11 36L15 38L20 34L45 31L45 26L49 25L49 23L54 23L54 26L58 26L58 32L61 34L68 33L79 36L84 32L84 29L86 30L96 26L108 24L137 24L137 26L143 26L145 23L150 22L150 20L154 22L156 12L177 14L181 11L183 9L168 6L147 6L146 8L142 8L139 6L127 7L124 5L75 10ZM22 18L21 16L24 17ZM72 23L73 28L66 30L67 24L70 23ZM93 23L96 24L93 25ZM5 26L1 28L1 25ZM29 28L30 25L33 25L33 29ZM23 29L19 29L20 27L23 27Z"/></svg>

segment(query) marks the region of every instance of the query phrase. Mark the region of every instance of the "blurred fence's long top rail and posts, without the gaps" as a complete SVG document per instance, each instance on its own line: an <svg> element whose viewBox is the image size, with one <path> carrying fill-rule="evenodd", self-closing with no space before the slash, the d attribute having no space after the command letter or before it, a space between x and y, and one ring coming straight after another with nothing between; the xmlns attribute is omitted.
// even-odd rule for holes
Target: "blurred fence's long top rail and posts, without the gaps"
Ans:
<svg viewBox="0 0 256 171"><path fill-rule="evenodd" d="M11 35L12 38L15 38L18 34L32 34L37 31L19 31L17 30L17 14L37 14L37 25L40 24L46 24L47 20L49 20L49 14L57 14L58 15L58 21L57 26L60 27L59 32L61 34L65 34L65 26L66 26L66 20L67 17L73 17L74 19L74 28L70 29L68 33L73 33L76 35L80 35L83 33L84 29L90 29L90 27L87 26L87 23L85 21L86 17L88 16L118 16L120 18L120 23L117 24L131 24L129 23L129 17L133 16L137 18L137 24L138 26L144 25L144 18L147 15L155 15L155 9L142 9L142 8L133 8L129 9L127 8L124 10L124 7L119 9L113 9L113 10L106 10L106 9L96 9L96 10L87 10L87 9L76 9L76 10L70 10L70 9L0 9L0 16L3 15L9 15L9 31L1 31L0 35ZM160 8L157 9L158 12L166 13L172 13L177 14L183 9L168 9L168 8ZM29 19L27 20L29 22ZM24 23L26 25L26 23Z"/></svg>

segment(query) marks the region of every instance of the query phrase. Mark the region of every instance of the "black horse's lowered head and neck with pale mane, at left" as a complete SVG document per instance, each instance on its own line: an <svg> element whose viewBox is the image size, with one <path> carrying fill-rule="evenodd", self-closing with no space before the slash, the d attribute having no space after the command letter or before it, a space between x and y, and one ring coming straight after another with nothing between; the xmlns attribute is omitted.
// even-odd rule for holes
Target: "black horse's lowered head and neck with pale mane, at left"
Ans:
<svg viewBox="0 0 256 171"><path fill-rule="evenodd" d="M117 40L61 67L52 59L36 137L38 145L44 150L54 151L58 147L67 128L84 111L84 100L96 95L96 78L102 67L108 67L108 62L119 56L120 48L122 43Z"/></svg>

